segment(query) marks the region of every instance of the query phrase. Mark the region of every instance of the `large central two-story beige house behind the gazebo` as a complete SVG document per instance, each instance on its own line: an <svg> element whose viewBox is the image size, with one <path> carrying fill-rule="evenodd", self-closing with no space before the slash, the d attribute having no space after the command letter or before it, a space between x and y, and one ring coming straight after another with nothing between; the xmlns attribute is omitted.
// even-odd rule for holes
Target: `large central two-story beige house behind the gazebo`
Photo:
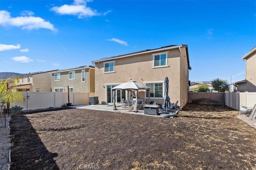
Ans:
<svg viewBox="0 0 256 170"><path fill-rule="evenodd" d="M164 79L169 79L168 96L172 103L180 106L188 102L189 76L191 69L187 45L170 45L158 49L137 51L124 55L92 61L95 65L95 96L99 103L112 103L114 86L130 78L151 88L150 100L164 103ZM127 98L127 91L117 90L116 104ZM146 92L139 92L139 98L147 99Z"/></svg>

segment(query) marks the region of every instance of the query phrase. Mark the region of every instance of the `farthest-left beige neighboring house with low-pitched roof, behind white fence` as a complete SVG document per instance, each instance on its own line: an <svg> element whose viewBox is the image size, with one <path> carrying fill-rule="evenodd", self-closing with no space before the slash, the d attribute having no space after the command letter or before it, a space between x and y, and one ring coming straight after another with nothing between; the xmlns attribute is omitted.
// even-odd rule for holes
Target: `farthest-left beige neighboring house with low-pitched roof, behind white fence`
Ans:
<svg viewBox="0 0 256 170"><path fill-rule="evenodd" d="M34 72L29 74L22 74L17 77L17 90L19 92L51 92L52 79L49 72Z"/></svg>

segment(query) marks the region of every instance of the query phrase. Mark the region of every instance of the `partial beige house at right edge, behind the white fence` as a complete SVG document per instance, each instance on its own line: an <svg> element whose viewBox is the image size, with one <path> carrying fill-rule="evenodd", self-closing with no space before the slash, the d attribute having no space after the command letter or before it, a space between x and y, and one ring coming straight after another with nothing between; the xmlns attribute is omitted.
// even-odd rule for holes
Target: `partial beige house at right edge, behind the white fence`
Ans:
<svg viewBox="0 0 256 170"><path fill-rule="evenodd" d="M256 47L244 55L242 60L246 60L245 80L232 83L234 91L256 92Z"/></svg>

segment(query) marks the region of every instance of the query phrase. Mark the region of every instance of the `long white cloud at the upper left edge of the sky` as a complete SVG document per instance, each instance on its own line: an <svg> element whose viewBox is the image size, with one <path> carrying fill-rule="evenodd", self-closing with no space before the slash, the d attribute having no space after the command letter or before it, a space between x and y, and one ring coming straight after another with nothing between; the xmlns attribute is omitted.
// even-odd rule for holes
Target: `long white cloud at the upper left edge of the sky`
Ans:
<svg viewBox="0 0 256 170"><path fill-rule="evenodd" d="M0 11L0 25L3 26L16 26L22 27L22 29L50 29L52 31L56 31L54 25L52 25L49 21L45 21L40 17L32 16L34 13L31 11L23 11L21 16L16 18L12 18L10 12L1 10Z"/></svg>

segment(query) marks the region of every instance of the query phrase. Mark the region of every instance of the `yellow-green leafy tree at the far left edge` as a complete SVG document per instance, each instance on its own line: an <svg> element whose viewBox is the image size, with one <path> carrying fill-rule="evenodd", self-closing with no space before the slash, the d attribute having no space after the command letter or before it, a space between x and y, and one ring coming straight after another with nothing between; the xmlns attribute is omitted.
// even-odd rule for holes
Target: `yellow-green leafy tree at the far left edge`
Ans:
<svg viewBox="0 0 256 170"><path fill-rule="evenodd" d="M0 80L0 105L7 104L8 107L10 104L14 105L24 101L22 93L16 90L16 80L16 78Z"/></svg>

